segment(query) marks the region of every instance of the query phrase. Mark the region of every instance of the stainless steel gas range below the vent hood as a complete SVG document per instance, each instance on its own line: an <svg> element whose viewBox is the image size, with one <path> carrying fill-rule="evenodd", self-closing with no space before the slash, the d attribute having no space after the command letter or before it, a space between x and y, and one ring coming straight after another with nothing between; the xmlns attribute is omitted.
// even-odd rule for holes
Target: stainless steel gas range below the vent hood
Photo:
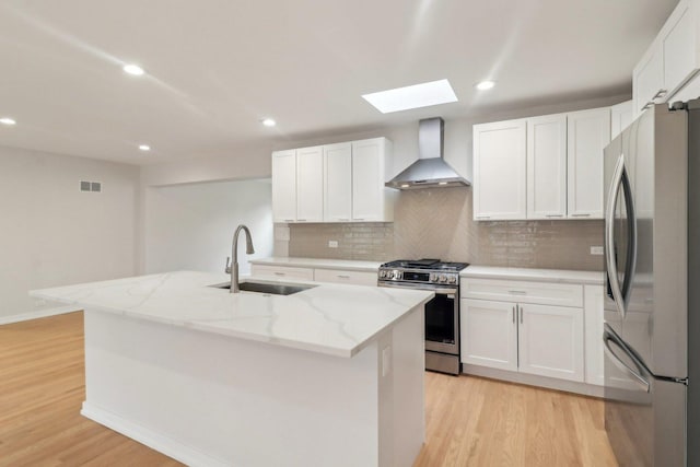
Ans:
<svg viewBox="0 0 700 467"><path fill-rule="evenodd" d="M400 259L380 267L377 285L435 292L425 304L425 370L459 374L459 271L466 262Z"/></svg>

